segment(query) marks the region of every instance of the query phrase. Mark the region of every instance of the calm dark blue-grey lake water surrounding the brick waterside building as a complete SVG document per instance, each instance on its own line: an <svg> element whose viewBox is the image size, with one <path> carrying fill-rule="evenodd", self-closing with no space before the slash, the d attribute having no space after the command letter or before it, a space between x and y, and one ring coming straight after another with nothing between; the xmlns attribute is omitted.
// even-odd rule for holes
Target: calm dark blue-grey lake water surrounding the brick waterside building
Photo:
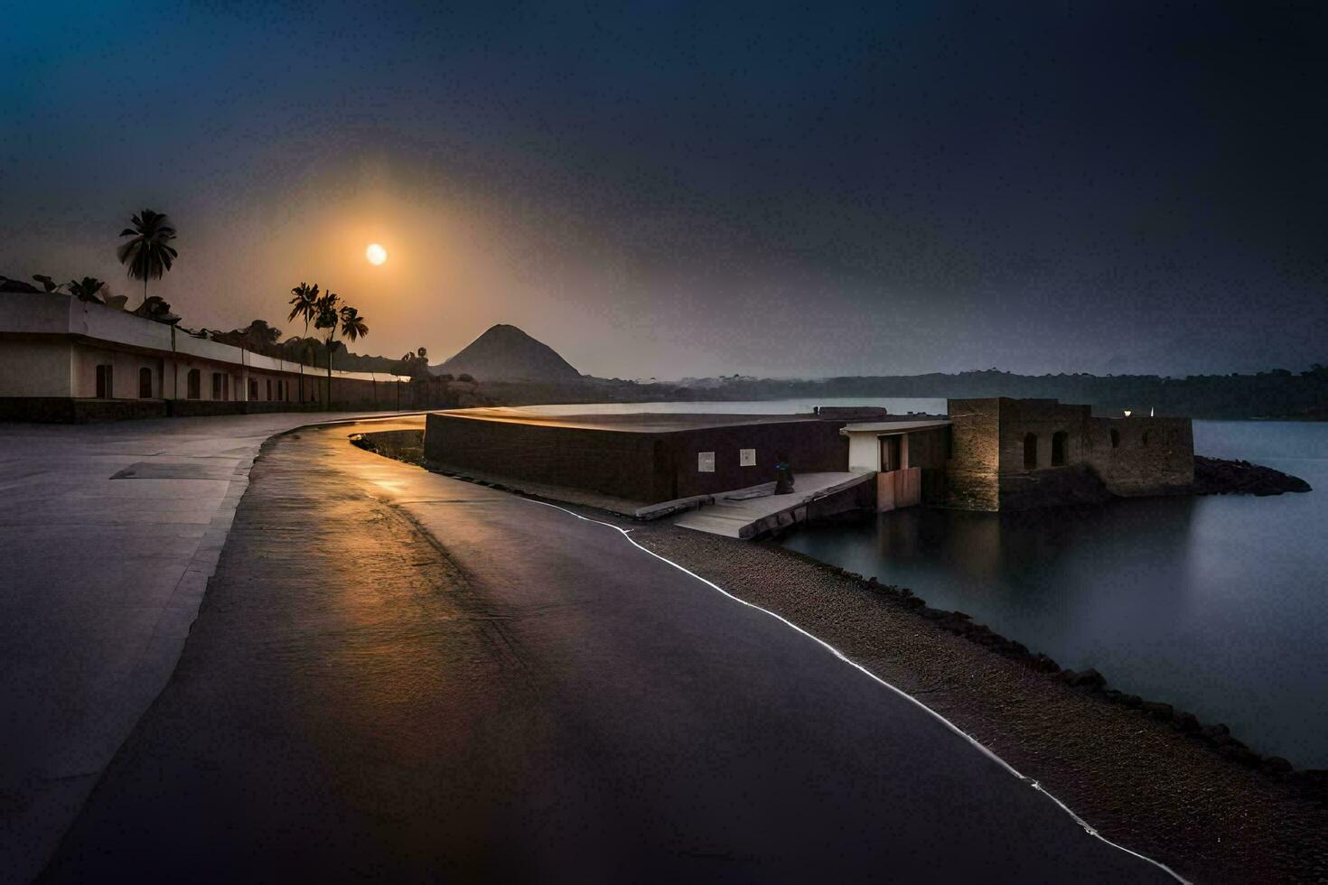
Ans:
<svg viewBox="0 0 1328 885"><path fill-rule="evenodd" d="M552 414L943 413L943 399L542 406ZM1315 491L1113 502L1033 513L912 508L805 528L785 545L1097 667L1122 691L1226 722L1256 751L1328 767L1328 423L1194 422L1195 451Z"/></svg>

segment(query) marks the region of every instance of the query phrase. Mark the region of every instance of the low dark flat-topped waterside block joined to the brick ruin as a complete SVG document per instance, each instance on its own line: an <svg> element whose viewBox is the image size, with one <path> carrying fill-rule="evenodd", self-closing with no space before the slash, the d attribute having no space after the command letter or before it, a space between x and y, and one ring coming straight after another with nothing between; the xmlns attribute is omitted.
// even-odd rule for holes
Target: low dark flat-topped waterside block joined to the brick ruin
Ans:
<svg viewBox="0 0 1328 885"><path fill-rule="evenodd" d="M1028 510L1177 494L1194 482L1189 418L1102 418L1089 406L1004 397L951 399L948 421L470 409L429 415L425 456L461 474L641 504L770 482L781 456L799 472L879 471L879 510Z"/></svg>

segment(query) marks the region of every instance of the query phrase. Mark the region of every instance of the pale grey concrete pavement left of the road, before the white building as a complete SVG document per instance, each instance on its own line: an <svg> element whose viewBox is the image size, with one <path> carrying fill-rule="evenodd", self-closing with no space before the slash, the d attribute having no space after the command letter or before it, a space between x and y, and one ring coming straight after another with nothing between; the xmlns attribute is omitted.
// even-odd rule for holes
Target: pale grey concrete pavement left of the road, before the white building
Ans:
<svg viewBox="0 0 1328 885"><path fill-rule="evenodd" d="M327 418L0 425L0 880L40 869L166 685L259 446Z"/></svg>

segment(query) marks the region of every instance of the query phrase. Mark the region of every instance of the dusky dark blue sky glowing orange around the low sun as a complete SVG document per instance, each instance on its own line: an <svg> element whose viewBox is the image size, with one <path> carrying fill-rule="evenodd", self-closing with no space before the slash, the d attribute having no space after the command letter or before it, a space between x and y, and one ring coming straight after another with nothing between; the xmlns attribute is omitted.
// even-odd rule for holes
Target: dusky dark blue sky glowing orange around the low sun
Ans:
<svg viewBox="0 0 1328 885"><path fill-rule="evenodd" d="M186 324L316 279L369 352L606 375L1328 362L1320 4L0 5L0 273L133 293L150 206Z"/></svg>

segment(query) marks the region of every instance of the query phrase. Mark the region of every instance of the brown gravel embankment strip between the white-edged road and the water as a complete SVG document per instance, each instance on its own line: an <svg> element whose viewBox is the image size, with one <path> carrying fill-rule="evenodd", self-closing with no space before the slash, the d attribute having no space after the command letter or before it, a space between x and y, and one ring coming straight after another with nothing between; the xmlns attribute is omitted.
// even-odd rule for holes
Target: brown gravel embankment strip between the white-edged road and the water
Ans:
<svg viewBox="0 0 1328 885"><path fill-rule="evenodd" d="M1017 644L980 626L956 633L954 620L947 629L906 592L773 544L672 525L639 527L633 537L835 645L1041 782L1108 839L1187 878L1328 881L1328 807L1304 772L1279 772L1276 760L1254 754L1242 764L1243 744L1231 740L1219 754L1227 739L1204 739L1185 714L1163 716L1165 705L1105 693L1096 674L1072 686Z"/></svg>

